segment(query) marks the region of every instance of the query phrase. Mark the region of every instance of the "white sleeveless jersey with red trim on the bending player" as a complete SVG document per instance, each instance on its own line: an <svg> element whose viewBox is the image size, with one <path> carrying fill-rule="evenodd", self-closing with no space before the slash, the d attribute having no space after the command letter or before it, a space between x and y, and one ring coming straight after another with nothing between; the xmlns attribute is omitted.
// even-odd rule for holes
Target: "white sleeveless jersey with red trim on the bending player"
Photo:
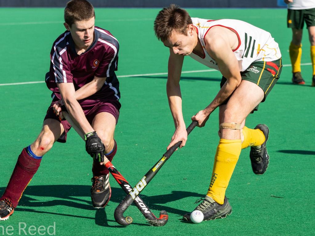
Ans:
<svg viewBox="0 0 315 236"><path fill-rule="evenodd" d="M238 37L238 47L233 52L238 60L240 71L246 70L254 61L274 61L281 57L278 43L274 41L269 32L244 21L192 18L192 23L197 29L204 56L200 57L195 53L191 53L190 56L210 68L219 70L216 61L206 51L204 37L211 27L218 25L232 30Z"/></svg>

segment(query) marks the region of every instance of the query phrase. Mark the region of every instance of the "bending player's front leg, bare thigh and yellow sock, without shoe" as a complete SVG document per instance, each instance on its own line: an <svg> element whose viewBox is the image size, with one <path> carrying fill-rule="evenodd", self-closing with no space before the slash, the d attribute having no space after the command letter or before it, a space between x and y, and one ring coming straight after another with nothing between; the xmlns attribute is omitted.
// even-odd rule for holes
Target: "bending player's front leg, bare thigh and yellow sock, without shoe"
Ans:
<svg viewBox="0 0 315 236"><path fill-rule="evenodd" d="M255 83L242 81L228 103L220 107L221 123L241 124L264 98L263 90ZM207 195L217 203L224 203L225 191L241 152L240 130L222 129L215 154L211 183Z"/></svg>

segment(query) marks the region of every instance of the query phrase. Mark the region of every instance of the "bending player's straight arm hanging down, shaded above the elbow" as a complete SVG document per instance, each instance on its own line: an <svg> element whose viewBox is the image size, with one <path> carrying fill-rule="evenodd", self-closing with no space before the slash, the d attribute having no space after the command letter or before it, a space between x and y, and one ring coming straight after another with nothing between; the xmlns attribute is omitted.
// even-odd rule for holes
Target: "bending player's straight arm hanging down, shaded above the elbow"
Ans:
<svg viewBox="0 0 315 236"><path fill-rule="evenodd" d="M167 46L167 45L165 45ZM169 46L169 63L168 63L168 79L166 83L166 92L169 100L169 108L171 110L175 132L167 147L167 150L175 143L182 141L180 148L185 146L187 140L186 125L182 113L182 99L180 92L180 74L184 61L183 55L175 54L174 48Z"/></svg>

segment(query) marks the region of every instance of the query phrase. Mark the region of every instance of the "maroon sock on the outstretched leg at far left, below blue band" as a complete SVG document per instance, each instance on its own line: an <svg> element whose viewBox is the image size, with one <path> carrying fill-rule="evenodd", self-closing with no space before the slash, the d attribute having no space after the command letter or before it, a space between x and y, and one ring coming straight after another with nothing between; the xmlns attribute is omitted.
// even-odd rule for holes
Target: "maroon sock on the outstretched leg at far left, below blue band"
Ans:
<svg viewBox="0 0 315 236"><path fill-rule="evenodd" d="M42 159L32 158L23 149L14 167L10 181L0 200L9 199L14 207L19 203L23 191L38 170Z"/></svg>

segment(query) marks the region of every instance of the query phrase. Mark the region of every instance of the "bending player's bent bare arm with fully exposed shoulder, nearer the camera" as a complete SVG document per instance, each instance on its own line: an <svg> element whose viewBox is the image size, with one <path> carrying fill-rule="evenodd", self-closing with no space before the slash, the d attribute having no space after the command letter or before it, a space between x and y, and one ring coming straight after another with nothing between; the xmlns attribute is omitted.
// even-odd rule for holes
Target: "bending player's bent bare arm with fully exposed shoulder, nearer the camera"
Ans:
<svg viewBox="0 0 315 236"><path fill-rule="evenodd" d="M216 60L221 74L227 81L213 101L192 117L193 121L198 121L200 127L205 125L209 115L234 92L242 81L238 61L232 51L238 45L238 39L236 35L233 37L233 34L229 29L215 26L205 37L206 50Z"/></svg>

